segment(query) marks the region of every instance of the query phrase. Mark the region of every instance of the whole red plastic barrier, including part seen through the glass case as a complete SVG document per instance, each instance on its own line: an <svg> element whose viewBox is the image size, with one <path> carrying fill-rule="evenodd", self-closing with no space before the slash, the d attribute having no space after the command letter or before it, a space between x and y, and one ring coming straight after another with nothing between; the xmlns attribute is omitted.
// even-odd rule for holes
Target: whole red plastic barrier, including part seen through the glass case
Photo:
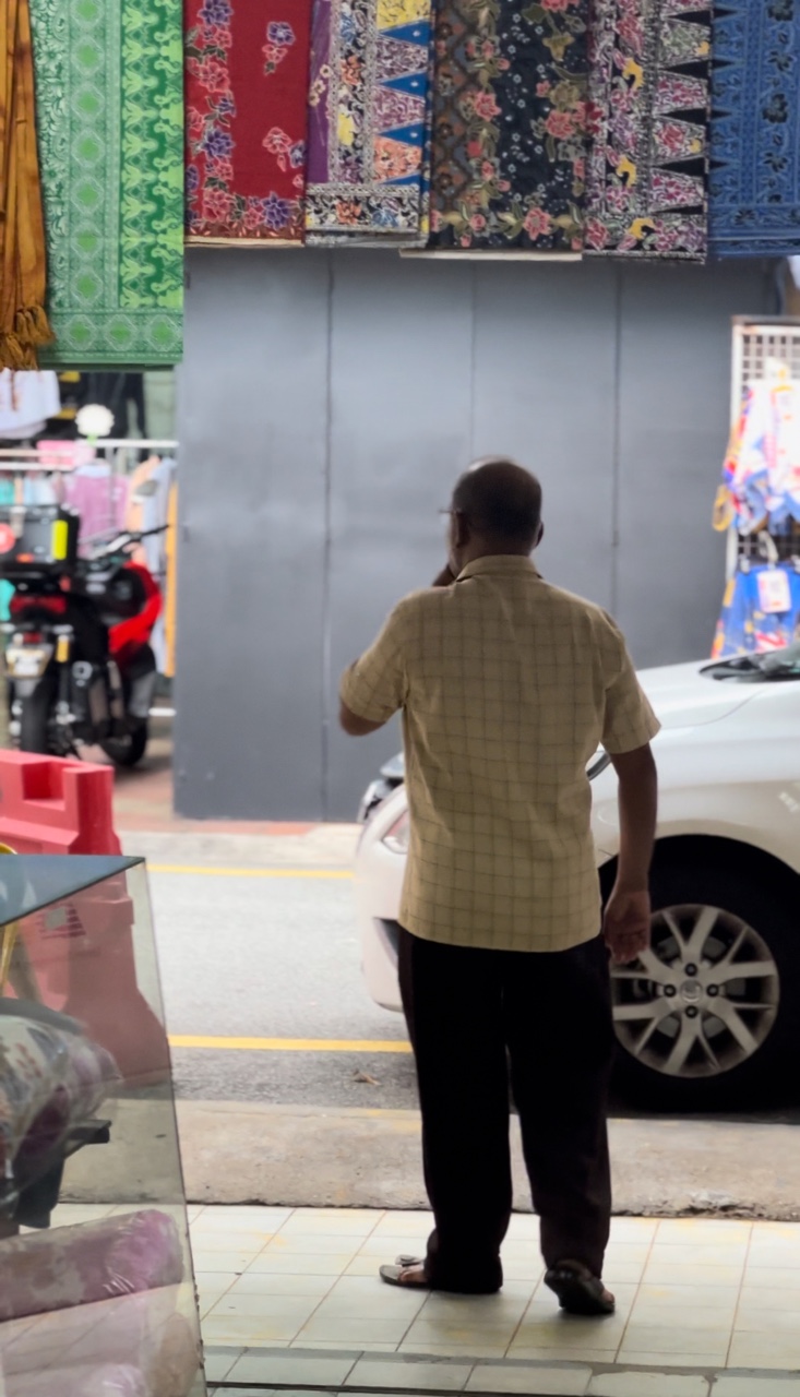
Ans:
<svg viewBox="0 0 800 1397"><path fill-rule="evenodd" d="M121 854L112 767L0 752L0 842L15 854ZM137 981L134 905L124 873L21 923L46 1004L71 1014L128 1084L169 1069L166 1034Z"/></svg>

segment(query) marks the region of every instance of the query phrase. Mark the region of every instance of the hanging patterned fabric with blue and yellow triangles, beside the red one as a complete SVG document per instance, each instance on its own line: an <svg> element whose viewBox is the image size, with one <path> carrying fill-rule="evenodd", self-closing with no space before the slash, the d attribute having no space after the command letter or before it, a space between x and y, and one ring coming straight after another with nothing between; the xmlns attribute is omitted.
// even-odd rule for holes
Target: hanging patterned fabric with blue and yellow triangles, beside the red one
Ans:
<svg viewBox="0 0 800 1397"><path fill-rule="evenodd" d="M310 243L415 243L426 222L431 0L317 0Z"/></svg>

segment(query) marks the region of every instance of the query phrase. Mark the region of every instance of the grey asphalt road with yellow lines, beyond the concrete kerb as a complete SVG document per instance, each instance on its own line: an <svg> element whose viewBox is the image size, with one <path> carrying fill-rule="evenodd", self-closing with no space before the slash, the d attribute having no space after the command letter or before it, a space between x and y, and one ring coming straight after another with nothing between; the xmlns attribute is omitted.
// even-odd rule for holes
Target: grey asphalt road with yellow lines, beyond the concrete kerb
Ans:
<svg viewBox="0 0 800 1397"><path fill-rule="evenodd" d="M416 1108L402 1017L378 1009L362 978L352 838L320 834L307 848L230 837L200 851L190 837L149 841L169 1031L193 1039L175 1048L179 1095ZM243 1051L242 1039L260 1045ZM320 1039L336 1046L314 1051ZM758 1118L799 1122L800 1101Z"/></svg>

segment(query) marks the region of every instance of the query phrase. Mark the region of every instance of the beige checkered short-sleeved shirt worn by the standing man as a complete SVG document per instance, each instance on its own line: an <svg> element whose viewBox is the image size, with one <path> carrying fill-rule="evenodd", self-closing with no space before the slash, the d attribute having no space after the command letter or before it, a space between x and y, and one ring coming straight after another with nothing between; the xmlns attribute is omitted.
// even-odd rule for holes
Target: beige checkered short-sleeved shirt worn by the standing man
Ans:
<svg viewBox="0 0 800 1397"><path fill-rule="evenodd" d="M586 763L659 731L610 616L526 557L482 557L395 606L342 700L403 712L409 932L514 951L598 935Z"/></svg>

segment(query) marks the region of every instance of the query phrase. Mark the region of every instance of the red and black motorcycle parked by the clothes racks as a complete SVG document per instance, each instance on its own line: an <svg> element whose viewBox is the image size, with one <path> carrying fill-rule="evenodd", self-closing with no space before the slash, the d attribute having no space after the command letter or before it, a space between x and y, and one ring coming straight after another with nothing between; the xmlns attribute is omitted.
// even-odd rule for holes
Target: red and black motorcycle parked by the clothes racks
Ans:
<svg viewBox="0 0 800 1397"><path fill-rule="evenodd" d="M152 573L120 532L78 556L80 518L60 506L0 509L0 578L11 583L6 650L11 740L80 756L99 746L120 767L145 754L162 610Z"/></svg>

